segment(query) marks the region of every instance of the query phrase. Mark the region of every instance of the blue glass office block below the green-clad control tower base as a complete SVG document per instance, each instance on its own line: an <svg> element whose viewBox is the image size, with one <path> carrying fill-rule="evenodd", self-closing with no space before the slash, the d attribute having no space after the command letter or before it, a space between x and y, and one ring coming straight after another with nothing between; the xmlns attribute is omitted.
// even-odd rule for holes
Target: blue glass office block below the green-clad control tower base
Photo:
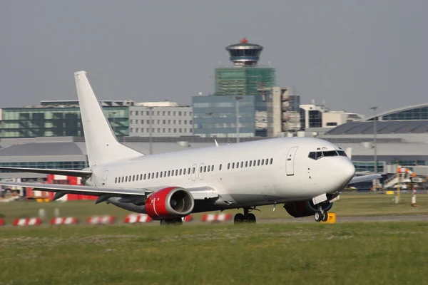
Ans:
<svg viewBox="0 0 428 285"><path fill-rule="evenodd" d="M193 133L201 137L236 138L235 96L193 96ZM263 95L246 95L239 100L239 136L267 135L267 108ZM263 122L264 120L264 122Z"/></svg>

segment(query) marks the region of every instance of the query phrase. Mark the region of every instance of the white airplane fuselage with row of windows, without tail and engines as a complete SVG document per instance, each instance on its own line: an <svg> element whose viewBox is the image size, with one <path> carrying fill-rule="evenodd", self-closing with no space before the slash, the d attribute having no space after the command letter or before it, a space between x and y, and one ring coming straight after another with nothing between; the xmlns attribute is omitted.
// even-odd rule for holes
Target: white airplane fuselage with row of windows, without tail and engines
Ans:
<svg viewBox="0 0 428 285"><path fill-rule="evenodd" d="M337 150L316 138L276 138L145 155L91 167L93 175L86 185L210 187L218 194L210 209L301 201L338 192L353 177L355 167L346 156L309 157L310 152ZM115 198L109 202L141 212ZM195 212L203 210L207 209L196 207Z"/></svg>

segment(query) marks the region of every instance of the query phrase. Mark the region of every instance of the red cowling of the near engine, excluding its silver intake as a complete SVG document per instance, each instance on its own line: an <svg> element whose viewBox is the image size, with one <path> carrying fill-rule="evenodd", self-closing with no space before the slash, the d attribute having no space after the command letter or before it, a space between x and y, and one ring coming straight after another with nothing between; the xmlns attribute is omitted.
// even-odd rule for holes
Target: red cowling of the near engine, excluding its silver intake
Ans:
<svg viewBox="0 0 428 285"><path fill-rule="evenodd" d="M177 187L166 187L154 192L146 199L146 213L155 220L174 217L166 210L166 196Z"/></svg>

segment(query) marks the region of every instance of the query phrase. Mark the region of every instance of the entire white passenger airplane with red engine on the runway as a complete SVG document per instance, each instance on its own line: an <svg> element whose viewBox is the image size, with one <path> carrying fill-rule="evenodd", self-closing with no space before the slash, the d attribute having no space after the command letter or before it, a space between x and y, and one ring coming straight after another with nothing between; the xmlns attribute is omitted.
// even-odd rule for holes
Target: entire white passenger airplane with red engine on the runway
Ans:
<svg viewBox="0 0 428 285"><path fill-rule="evenodd" d="M54 170L0 167L0 170L83 177L84 185L0 182L56 192L98 196L161 224L180 224L193 212L239 208L235 223L255 222L250 213L261 205L284 204L293 217L327 211L350 183L378 179L354 177L345 152L316 138L273 138L156 155L143 155L116 139L85 71L75 73L89 167Z"/></svg>

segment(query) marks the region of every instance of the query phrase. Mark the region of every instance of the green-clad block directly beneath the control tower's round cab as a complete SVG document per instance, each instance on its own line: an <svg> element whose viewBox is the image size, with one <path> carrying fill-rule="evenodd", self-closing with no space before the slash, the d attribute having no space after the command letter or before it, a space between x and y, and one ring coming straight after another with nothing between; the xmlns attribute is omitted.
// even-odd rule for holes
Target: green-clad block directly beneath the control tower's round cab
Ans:
<svg viewBox="0 0 428 285"><path fill-rule="evenodd" d="M275 68L235 66L215 69L215 95L259 95L275 86Z"/></svg>

